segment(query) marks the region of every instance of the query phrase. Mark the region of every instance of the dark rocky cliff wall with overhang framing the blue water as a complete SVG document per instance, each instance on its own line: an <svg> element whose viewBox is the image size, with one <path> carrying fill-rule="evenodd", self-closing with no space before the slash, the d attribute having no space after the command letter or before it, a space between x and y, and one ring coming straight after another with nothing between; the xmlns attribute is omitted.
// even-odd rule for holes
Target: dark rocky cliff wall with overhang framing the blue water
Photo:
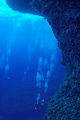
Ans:
<svg viewBox="0 0 80 120"><path fill-rule="evenodd" d="M62 50L67 73L48 105L48 120L80 120L80 0L15 0L10 6L47 18Z"/></svg>

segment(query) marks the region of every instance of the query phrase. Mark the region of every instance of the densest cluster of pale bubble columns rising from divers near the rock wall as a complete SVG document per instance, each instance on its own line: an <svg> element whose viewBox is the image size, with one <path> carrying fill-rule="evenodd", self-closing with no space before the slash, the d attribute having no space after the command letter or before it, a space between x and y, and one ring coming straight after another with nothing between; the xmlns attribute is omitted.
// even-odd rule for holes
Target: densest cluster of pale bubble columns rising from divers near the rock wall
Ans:
<svg viewBox="0 0 80 120"><path fill-rule="evenodd" d="M51 58L52 59L52 58ZM38 70L36 74L36 87L38 89L35 110L42 108L45 105L45 94L48 89L49 80L51 77L52 67L54 64L53 60L48 60L47 58L39 57L38 60Z"/></svg>

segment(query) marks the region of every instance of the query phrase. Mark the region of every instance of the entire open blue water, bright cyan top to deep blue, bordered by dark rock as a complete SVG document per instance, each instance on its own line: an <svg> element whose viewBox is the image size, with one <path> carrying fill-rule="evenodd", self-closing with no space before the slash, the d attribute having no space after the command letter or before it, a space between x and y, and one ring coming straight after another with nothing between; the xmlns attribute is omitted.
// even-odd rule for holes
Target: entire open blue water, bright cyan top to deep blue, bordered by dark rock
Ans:
<svg viewBox="0 0 80 120"><path fill-rule="evenodd" d="M47 20L0 0L0 120L47 120L65 67Z"/></svg>

